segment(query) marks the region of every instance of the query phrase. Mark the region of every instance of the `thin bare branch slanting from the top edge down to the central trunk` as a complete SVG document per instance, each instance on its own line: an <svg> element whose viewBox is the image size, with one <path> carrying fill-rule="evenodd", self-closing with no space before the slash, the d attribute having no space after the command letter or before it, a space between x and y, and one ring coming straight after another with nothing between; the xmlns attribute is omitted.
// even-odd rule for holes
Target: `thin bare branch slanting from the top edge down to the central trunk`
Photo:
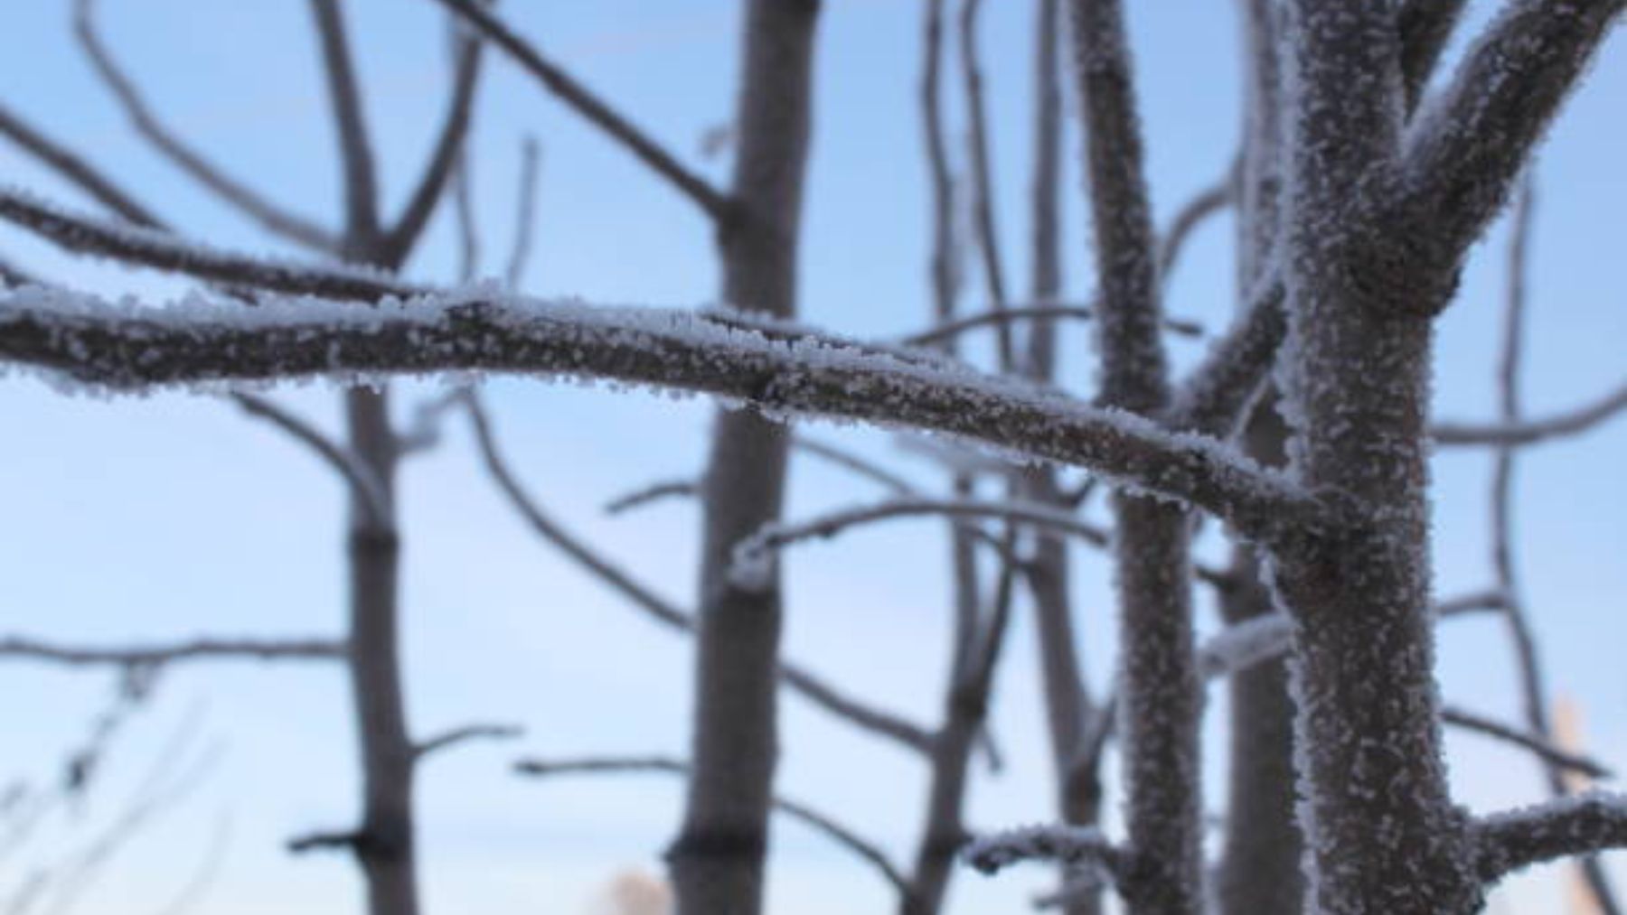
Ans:
<svg viewBox="0 0 1627 915"><path fill-rule="evenodd" d="M587 86L578 83L569 73L542 55L535 46L519 37L509 26L491 11L480 7L477 0L434 0L441 3L469 26L483 34L491 44L503 49L527 73L535 76L543 88L578 114L586 117L612 140L625 146L641 163L656 174L667 179L685 197L700 205L708 216L718 221L729 218L732 205L726 195L706 182L706 179L687 169L665 148L651 140L615 109L592 94Z"/></svg>

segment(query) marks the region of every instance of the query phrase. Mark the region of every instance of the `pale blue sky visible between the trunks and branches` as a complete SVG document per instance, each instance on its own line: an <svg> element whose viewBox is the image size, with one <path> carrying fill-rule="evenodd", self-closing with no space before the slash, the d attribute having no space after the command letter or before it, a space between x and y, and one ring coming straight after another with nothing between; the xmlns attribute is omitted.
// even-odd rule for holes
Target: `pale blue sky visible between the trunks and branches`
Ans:
<svg viewBox="0 0 1627 915"><path fill-rule="evenodd" d="M700 138L732 107L737 3L597 0L521 3L521 29L615 99L651 133L719 180ZM1009 273L1027 258L1032 7L986 5L981 46L994 127L999 224ZM1131 29L1145 111L1154 205L1170 215L1212 182L1237 137L1237 55L1230 3L1132 3ZM1476 5L1477 28L1494 3ZM337 223L337 166L304 3L103 0L104 34L163 115L229 171L288 206ZM439 13L428 0L347 5L366 88L389 210L417 174L444 104ZM89 153L187 232L216 244L280 250L151 154L127 128L72 41L67 2L11 3L0 13L0 99ZM833 0L820 24L818 106L802 258L807 320L857 335L911 330L929 314L926 184L914 107L919 50L914 0ZM947 86L953 89L955 70ZM1529 372L1533 411L1564 408L1617 384L1627 309L1619 215L1627 172L1627 52L1617 39L1544 146L1539 166ZM962 119L953 117L958 138ZM499 57L486 68L473 146L485 271L501 273L513 229L519 145L543 146L537 249L524 289L599 302L693 306L716 289L709 228L683 198L543 96ZM1077 132L1071 135L1077 151ZM1087 224L1077 158L1069 156L1067 284L1088 293ZM8 146L3 180L62 200L78 197ZM1170 310L1212 325L1232 307L1230 223L1194 239L1170 289ZM1459 302L1443 320L1437 366L1442 416L1487 418L1502 296L1498 226L1479 249ZM150 273L67 260L10 229L0 254L37 273L104 293L163 296L181 286ZM412 271L449 280L449 224L438 219ZM1014 283L1015 284L1015 283ZM1071 382L1090 377L1088 335L1064 336ZM1201 346L1173 343L1181 366ZM400 405L434 385L402 385ZM337 419L324 387L280 393ZM491 385L499 432L543 504L677 600L693 592L695 512L672 504L605 518L602 502L654 478L695 471L711 406L602 388L504 380ZM63 640L164 639L197 632L332 634L342 619L342 492L329 471L229 405L185 395L96 401L63 398L34 379L0 380L0 632ZM900 470L926 473L882 434L820 429ZM1555 689L1581 702L1598 754L1627 765L1619 663L1627 567L1627 423L1580 442L1534 449L1520 470L1520 561ZM1485 538L1489 460L1443 455L1437 475L1438 590L1490 580ZM792 473L791 514L875 492L818 465ZM412 722L420 733L465 720L513 720L517 746L477 746L433 761L420 780L423 884L431 910L587 912L595 887L623 866L656 868L680 791L652 778L524 783L517 752L682 752L687 645L558 561L514 518L454 426L403 476L405 652ZM1214 546L1214 544L1210 544ZM787 655L919 720L937 713L949 600L942 531L898 523L815 544L789 567ZM1090 674L1111 671L1105 569L1079 554L1079 606ZM1202 624L1212 626L1207 606ZM1510 650L1494 619L1453 622L1442 639L1442 689L1511 717ZM996 722L1012 757L984 778L979 826L1043 819L1048 769L1032 663L1020 621L999 679ZM0 668L0 713L13 735L0 780L49 780L109 692L109 678L33 665ZM195 712L195 710L202 712ZM161 910L208 858L225 852L208 910L356 910L347 860L293 860L280 842L355 816L348 699L332 670L213 665L164 678L158 702L117 744L83 822L42 835L28 855L70 847L117 814L146 761L200 713L200 744L225 748L212 777L132 843L80 910ZM1210 731L1224 720L1222 696ZM1210 746L1222 746L1210 741ZM1209 765L1219 788L1220 769ZM1453 741L1461 798L1495 808L1539 796L1526 759ZM843 813L908 860L924 767L892 748L786 702L781 787ZM67 845L63 845L67 843ZM0 894L26 855L0 858ZM887 887L815 835L776 834L773 912L869 912ZM957 882L955 910L1014 905L1043 886L1033 871ZM1513 892L1541 907L1552 881ZM0 895L3 897L3 895Z"/></svg>

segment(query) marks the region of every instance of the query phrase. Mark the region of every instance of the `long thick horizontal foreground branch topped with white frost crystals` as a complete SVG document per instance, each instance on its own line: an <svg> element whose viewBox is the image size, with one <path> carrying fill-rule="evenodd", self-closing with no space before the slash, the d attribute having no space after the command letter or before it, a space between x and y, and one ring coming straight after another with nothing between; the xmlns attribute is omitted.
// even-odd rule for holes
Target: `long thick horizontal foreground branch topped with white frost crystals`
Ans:
<svg viewBox="0 0 1627 915"><path fill-rule="evenodd" d="M519 372L709 393L773 416L947 432L1202 507L1248 536L1323 523L1319 501L1217 439L1168 432L1015 379L787 325L465 291L379 307L192 294L166 309L31 286L0 293L0 361L103 390Z"/></svg>

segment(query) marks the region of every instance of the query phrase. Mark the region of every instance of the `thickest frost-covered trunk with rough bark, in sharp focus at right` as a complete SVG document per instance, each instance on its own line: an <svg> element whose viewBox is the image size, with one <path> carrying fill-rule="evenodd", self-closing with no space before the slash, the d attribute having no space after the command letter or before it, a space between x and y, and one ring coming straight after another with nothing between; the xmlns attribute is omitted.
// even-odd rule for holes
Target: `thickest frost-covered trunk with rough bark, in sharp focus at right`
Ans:
<svg viewBox="0 0 1627 915"><path fill-rule="evenodd" d="M1472 912L1481 884L1446 785L1429 611L1432 328L1415 315L1443 284L1367 206L1389 185L1401 130L1394 11L1297 0L1289 15L1282 390L1297 475L1346 507L1342 525L1274 556L1295 616L1308 907Z"/></svg>

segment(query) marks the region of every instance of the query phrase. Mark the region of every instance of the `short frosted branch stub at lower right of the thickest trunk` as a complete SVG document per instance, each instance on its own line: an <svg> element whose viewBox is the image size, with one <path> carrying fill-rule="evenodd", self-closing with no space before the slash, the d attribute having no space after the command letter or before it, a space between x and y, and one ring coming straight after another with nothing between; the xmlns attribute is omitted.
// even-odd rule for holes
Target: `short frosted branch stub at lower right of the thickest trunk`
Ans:
<svg viewBox="0 0 1627 915"><path fill-rule="evenodd" d="M1627 796L1572 795L1487 816L1472 829L1481 878L1497 881L1554 858L1627 847Z"/></svg>

